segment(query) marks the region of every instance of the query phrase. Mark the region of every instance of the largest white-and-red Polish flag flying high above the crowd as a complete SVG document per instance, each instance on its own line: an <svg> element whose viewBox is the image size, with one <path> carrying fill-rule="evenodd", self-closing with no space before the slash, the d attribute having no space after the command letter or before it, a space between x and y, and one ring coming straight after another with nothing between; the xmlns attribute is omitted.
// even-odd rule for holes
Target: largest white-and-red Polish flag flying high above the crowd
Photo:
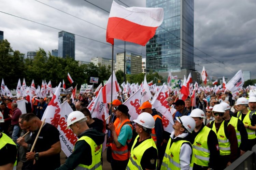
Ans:
<svg viewBox="0 0 256 170"><path fill-rule="evenodd" d="M106 41L114 45L114 38L145 46L163 21L163 8L124 7L113 1Z"/></svg>

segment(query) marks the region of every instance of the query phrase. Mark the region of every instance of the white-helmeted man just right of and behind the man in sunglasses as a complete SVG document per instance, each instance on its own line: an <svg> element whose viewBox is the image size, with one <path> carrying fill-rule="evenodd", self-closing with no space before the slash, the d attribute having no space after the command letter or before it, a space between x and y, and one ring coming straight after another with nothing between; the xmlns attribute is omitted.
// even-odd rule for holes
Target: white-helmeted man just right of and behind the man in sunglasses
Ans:
<svg viewBox="0 0 256 170"><path fill-rule="evenodd" d="M248 139L248 135L244 127L244 124L237 117L230 115L229 113L230 106L228 103L222 102L221 105L224 107L224 110L225 110L223 119L229 124L231 124L232 126L234 126L236 130L238 148L239 148L238 151L239 151L239 155L242 155L247 151L247 139Z"/></svg>

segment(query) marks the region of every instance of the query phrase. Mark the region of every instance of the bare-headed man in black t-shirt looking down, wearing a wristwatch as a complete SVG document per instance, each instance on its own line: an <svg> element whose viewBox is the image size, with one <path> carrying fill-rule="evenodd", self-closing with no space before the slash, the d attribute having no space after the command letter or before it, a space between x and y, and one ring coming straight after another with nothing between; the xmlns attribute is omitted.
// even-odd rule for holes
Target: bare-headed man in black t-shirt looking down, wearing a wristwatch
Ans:
<svg viewBox="0 0 256 170"><path fill-rule="evenodd" d="M23 119L23 126L29 131L38 133L43 122L34 114L29 113ZM59 131L51 124L44 123L35 144L35 152L28 152L28 160L35 159L33 169L52 170L60 166L60 140Z"/></svg>

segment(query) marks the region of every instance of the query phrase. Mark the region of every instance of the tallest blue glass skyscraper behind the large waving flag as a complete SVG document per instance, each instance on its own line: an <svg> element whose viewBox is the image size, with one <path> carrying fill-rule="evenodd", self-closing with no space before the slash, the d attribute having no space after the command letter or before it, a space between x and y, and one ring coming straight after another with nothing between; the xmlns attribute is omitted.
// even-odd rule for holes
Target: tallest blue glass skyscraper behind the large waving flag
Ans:
<svg viewBox="0 0 256 170"><path fill-rule="evenodd" d="M162 7L163 22L146 45L146 72L168 72L183 79L191 72L196 80L194 63L194 0L146 0L146 7Z"/></svg>

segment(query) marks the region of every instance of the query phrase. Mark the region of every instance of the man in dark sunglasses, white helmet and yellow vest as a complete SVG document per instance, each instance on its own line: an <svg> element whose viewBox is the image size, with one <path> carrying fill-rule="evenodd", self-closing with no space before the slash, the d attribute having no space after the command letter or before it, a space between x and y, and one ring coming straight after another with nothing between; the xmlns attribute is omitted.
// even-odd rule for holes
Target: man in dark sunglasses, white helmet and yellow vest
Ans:
<svg viewBox="0 0 256 170"><path fill-rule="evenodd" d="M222 105L216 104L213 106L214 121L207 126L211 128L217 135L219 142L219 161L218 169L225 169L237 159L238 143L236 130L231 124L223 120L225 110Z"/></svg>

